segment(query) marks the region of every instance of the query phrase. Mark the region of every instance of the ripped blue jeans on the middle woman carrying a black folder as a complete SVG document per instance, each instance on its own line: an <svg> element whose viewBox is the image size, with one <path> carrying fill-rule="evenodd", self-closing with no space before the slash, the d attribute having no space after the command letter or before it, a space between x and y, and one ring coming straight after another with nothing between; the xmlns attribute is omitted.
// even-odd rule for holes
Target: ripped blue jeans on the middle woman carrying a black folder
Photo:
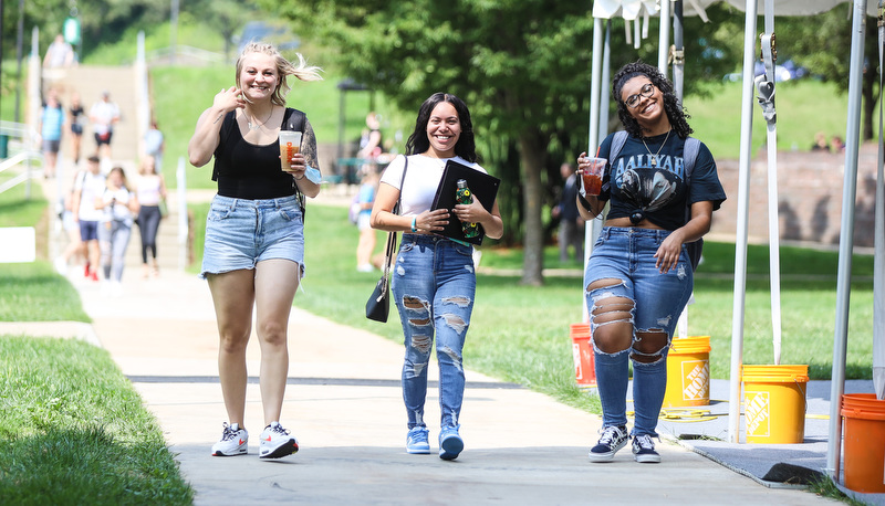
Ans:
<svg viewBox="0 0 885 506"><path fill-rule="evenodd" d="M464 401L461 351L473 310L473 247L435 235L403 234L391 294L405 335L403 400L408 428L426 426L427 366L439 363L440 426L458 426Z"/></svg>

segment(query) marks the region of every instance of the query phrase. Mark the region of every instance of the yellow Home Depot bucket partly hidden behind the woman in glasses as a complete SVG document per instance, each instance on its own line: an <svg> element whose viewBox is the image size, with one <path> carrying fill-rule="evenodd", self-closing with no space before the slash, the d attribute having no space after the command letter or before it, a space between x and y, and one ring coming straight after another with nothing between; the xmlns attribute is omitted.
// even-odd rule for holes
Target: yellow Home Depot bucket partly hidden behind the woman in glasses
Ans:
<svg viewBox="0 0 885 506"><path fill-rule="evenodd" d="M667 355L664 408L710 403L710 336L673 340Z"/></svg>

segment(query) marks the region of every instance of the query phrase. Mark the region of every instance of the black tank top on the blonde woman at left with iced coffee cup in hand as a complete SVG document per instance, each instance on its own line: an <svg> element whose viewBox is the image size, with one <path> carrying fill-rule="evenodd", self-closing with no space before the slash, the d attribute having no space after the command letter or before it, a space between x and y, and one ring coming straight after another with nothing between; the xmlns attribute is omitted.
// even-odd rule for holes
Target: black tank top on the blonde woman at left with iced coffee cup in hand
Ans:
<svg viewBox="0 0 885 506"><path fill-rule="evenodd" d="M237 125L236 112L225 116L221 131L215 150L218 194L249 200L295 194L294 179L280 168L278 141L263 146L246 141Z"/></svg>

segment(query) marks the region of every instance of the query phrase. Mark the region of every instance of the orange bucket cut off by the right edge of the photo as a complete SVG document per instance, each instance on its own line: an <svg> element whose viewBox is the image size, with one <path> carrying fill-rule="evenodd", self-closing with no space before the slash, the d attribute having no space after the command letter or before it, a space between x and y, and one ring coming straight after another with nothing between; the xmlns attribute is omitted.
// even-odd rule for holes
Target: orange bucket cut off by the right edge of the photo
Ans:
<svg viewBox="0 0 885 506"><path fill-rule="evenodd" d="M842 418L845 486L885 493L885 400L875 393L845 393Z"/></svg>

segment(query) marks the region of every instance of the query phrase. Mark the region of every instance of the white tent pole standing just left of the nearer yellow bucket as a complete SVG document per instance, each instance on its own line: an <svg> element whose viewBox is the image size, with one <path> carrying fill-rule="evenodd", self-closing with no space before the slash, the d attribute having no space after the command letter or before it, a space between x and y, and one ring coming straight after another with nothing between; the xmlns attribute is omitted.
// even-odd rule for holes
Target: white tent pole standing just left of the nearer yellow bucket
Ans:
<svg viewBox="0 0 885 506"><path fill-rule="evenodd" d="M747 0L743 31L743 89L740 118L738 223L735 238L735 297L731 310L731 373L728 397L728 442L740 442L740 379L743 362L743 313L747 297L747 222L749 221L750 158L752 156L753 63L756 61L756 0Z"/></svg>

